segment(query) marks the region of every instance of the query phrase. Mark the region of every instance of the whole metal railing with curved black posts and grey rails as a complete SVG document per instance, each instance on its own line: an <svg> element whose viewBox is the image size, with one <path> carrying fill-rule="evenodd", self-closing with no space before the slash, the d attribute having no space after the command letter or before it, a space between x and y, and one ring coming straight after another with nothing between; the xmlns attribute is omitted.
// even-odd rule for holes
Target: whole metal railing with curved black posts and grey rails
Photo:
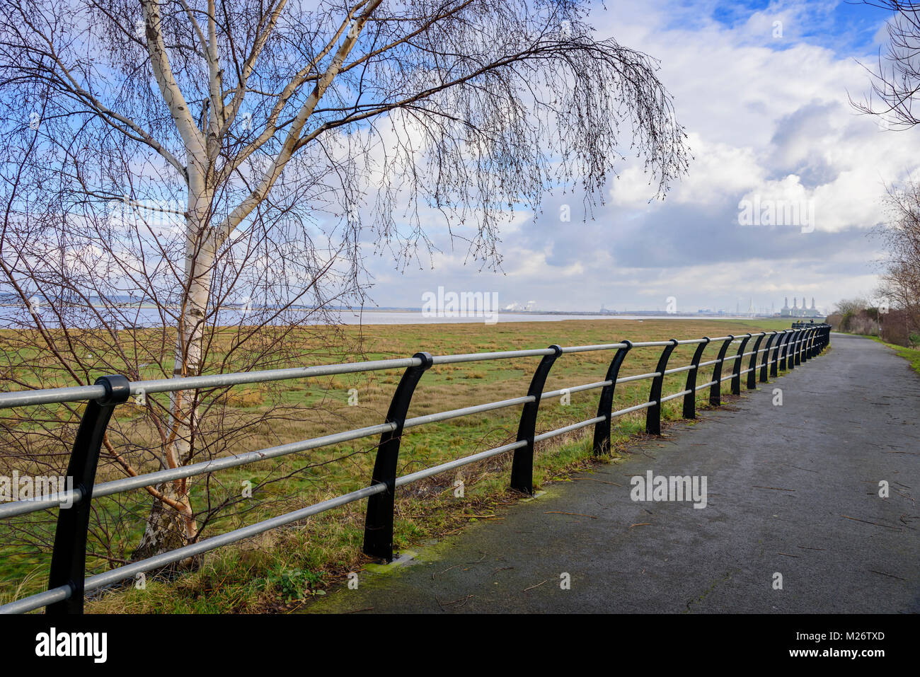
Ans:
<svg viewBox="0 0 920 677"><path fill-rule="evenodd" d="M59 508L48 590L15 602L6 603L0 606L0 613L25 613L44 606L47 614L81 614L83 613L84 596L87 591L98 590L114 583L133 579L138 574L167 567L223 545L236 543L282 525L297 522L306 517L362 499L367 499L363 552L372 557L381 557L387 561L392 561L393 513L396 488L419 481L425 477L438 475L497 456L500 453L513 451L511 487L523 493L533 494L535 442L541 442L573 430L593 426L592 443L594 453L598 455L607 453L610 450L612 420L641 409L646 409L646 431L649 434L661 434L662 403L683 396L684 418L694 419L696 418L697 391L708 387L709 403L718 407L721 403L721 384L724 381L730 379L731 393L739 395L741 393L742 376L747 374L746 386L748 389L754 389L756 388L758 371L760 382L765 383L768 374L769 376L776 376L778 370L794 369L802 361L808 361L821 353L830 342L830 330L829 325L822 324L801 329L744 334L739 337L729 335L719 338L704 337L688 340L672 338L666 341L635 343L624 340L619 343L593 346L562 348L561 346L553 345L540 350L509 350L463 355L433 356L427 352L418 352L407 359L364 361L296 369L224 373L136 382L130 382L122 375L110 375L98 378L96 384L93 385L0 394L0 408L77 401L86 401L87 403L76 433L73 453L71 453L67 466L68 483L66 486L73 488L58 494L23 499L0 505L0 518L4 519L49 508ZM752 338L756 339L753 349L745 352L745 348ZM765 347L760 348L764 339L766 339ZM707 346L717 341L722 342L719 347L718 358L701 362L700 359ZM668 369L668 360L673 350L678 345L689 344L696 344L696 351L691 363L683 367ZM728 355L728 350L732 344L737 344L738 349L734 355ZM663 349L654 372L619 377L620 367L630 350L652 347ZM613 359L610 361L604 376L604 381L544 392L546 376L549 374L553 363L560 356L593 350L615 350ZM771 351L773 353L772 357ZM407 418L409 403L416 385L419 384L425 371L432 366L458 362L509 360L523 357L541 358L531 379L526 396L428 414L413 419ZM748 361L747 368L742 368L743 359L746 357L750 357L750 361ZM759 367L757 364L758 357L761 358ZM730 373L726 376L722 376L723 365L730 365ZM705 384L696 384L696 374L699 373L701 368L707 366L713 366L711 380ZM405 369L405 372L390 402L385 421L381 424L324 435L304 442L282 444L256 452L241 453L207 462L146 473L140 476L125 477L95 486L100 445L109 424L109 419L115 407L126 402L131 396L389 369ZM684 389L672 395L662 396L661 386L664 377L676 373L687 374ZM651 380L648 401L634 407L613 411L614 391L617 384L647 379ZM601 390L595 417L557 430L536 434L536 419L541 399L561 396L567 391L575 393L592 389ZM515 442L397 477L399 444L404 430L437 421L517 406L523 406L523 408ZM148 557L86 578L86 537L90 503L93 498L111 496L137 488L152 487L169 480L201 476L225 468L247 465L257 461L374 435L380 435L380 442L377 445L374 472L368 487L351 491L334 499L321 501L301 510L282 514L270 520L250 524L225 534L211 536L196 543L178 547L167 553ZM72 484L70 483L71 481Z"/></svg>

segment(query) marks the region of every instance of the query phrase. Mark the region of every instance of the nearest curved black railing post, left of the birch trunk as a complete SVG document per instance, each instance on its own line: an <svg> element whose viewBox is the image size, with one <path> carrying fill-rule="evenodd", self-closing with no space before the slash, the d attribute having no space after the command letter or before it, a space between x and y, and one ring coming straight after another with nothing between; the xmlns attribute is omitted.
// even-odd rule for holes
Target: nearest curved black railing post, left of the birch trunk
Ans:
<svg viewBox="0 0 920 677"><path fill-rule="evenodd" d="M86 533L89 530L90 503L99 449L112 411L131 396L131 384L121 374L100 376L96 385L104 385L105 396L86 403L80 427L76 431L74 451L67 464L67 488L79 490L80 498L58 511L54 532L51 572L48 589L69 585L71 595L45 608L45 614L83 614L84 579L86 578Z"/></svg>

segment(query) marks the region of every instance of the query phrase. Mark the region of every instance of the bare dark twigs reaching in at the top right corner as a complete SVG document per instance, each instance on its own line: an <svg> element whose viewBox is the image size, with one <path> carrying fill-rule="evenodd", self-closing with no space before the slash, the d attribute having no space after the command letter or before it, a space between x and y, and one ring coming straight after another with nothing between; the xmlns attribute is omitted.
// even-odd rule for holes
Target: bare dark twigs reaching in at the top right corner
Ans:
<svg viewBox="0 0 920 677"><path fill-rule="evenodd" d="M888 21L889 44L875 71L869 71L872 89L861 102L850 104L860 112L879 116L892 130L914 127L920 111L914 100L920 96L920 4L899 0L864 0L868 6L893 13ZM867 69L868 70L868 69Z"/></svg>

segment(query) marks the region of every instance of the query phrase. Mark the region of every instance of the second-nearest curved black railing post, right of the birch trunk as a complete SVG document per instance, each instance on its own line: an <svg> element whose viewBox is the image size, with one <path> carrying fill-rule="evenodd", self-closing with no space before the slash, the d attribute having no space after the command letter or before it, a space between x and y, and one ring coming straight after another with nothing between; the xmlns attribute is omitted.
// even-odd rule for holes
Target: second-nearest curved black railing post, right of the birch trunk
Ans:
<svg viewBox="0 0 920 677"><path fill-rule="evenodd" d="M386 491L367 499L367 517L364 520L364 554L381 557L387 562L393 561L393 511L396 508L397 462L403 424L406 422L415 386L432 364L430 353L417 352L412 357L419 359L421 363L408 367L397 385L385 420L386 423L395 423L396 427L380 436L377 457L374 459L371 486L385 484Z"/></svg>

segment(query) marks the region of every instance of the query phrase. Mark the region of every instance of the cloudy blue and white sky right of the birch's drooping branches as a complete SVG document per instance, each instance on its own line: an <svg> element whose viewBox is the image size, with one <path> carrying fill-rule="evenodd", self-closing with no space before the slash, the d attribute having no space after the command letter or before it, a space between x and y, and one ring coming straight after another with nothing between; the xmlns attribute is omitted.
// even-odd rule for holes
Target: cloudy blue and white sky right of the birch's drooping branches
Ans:
<svg viewBox="0 0 920 677"><path fill-rule="evenodd" d="M845 2L596 7L598 38L660 60L694 155L688 175L650 202L641 161L627 163L587 219L580 198L547 196L536 218L518 212L501 231L499 271L465 262L462 244L402 271L369 256L373 304L420 307L438 287L541 310L663 311L670 300L678 314L873 298L885 187L920 165L920 130L885 129L848 103L868 93L864 66L889 17ZM775 206L780 224L742 223L745 204Z"/></svg>

